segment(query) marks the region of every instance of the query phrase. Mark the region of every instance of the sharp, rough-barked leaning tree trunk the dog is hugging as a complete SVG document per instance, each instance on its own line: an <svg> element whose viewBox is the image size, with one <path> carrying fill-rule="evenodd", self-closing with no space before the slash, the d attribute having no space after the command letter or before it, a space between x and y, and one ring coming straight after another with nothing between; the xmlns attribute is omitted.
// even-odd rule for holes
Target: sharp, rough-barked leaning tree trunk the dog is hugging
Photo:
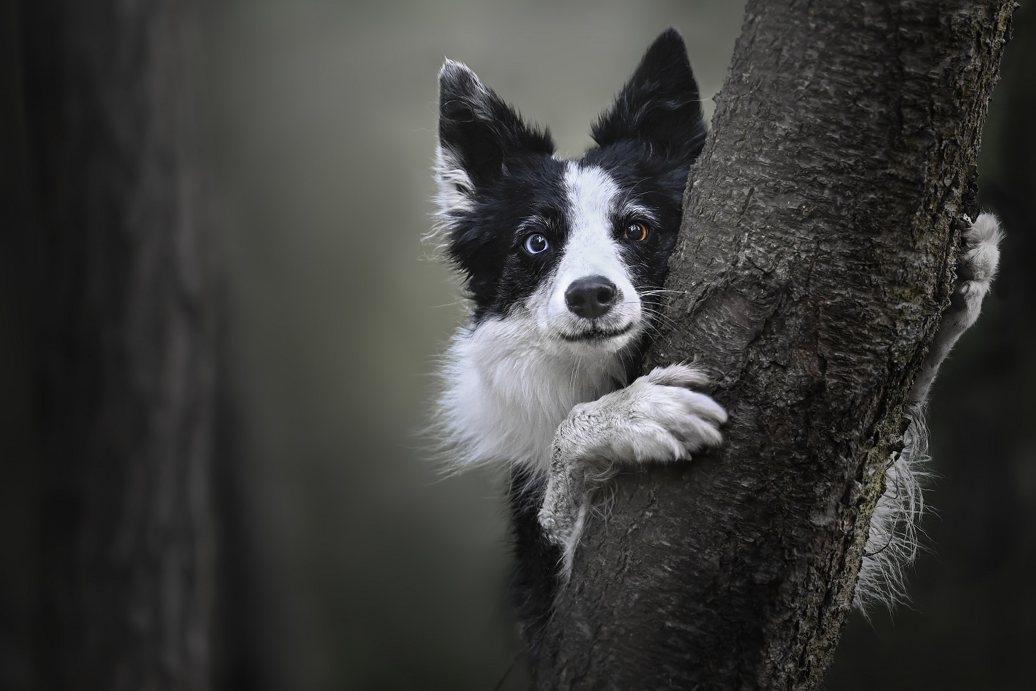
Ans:
<svg viewBox="0 0 1036 691"><path fill-rule="evenodd" d="M621 476L544 689L809 689L953 283L1010 0L749 0L645 367L697 359L721 452ZM693 53L693 49L691 51Z"/></svg>

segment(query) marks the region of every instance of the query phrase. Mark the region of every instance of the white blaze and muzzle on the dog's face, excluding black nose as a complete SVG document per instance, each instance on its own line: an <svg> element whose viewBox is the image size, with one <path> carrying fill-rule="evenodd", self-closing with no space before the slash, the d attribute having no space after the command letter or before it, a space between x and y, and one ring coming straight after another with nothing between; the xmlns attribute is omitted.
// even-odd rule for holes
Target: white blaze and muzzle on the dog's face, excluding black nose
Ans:
<svg viewBox="0 0 1036 691"><path fill-rule="evenodd" d="M621 191L604 170L596 166L580 167L569 162L565 171L565 186L569 197L569 236L562 261L542 297L549 330L575 335L587 329L587 320L573 314L565 301L565 291L573 281L603 276L616 288L614 307L595 320L599 328L617 330L633 324L628 338L615 339L611 348L632 339L640 322L640 298L637 296L629 269L623 259L618 240L614 237L614 211Z"/></svg>

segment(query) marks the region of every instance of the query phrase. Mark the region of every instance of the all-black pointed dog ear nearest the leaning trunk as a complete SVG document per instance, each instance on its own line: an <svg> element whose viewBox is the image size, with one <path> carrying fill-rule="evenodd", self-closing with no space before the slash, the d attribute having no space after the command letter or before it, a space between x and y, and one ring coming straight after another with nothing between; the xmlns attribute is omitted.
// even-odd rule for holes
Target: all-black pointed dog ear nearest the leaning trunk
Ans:
<svg viewBox="0 0 1036 691"><path fill-rule="evenodd" d="M693 161L707 133L700 98L684 39L668 29L648 49L615 104L598 119L594 141L607 146L637 140Z"/></svg>

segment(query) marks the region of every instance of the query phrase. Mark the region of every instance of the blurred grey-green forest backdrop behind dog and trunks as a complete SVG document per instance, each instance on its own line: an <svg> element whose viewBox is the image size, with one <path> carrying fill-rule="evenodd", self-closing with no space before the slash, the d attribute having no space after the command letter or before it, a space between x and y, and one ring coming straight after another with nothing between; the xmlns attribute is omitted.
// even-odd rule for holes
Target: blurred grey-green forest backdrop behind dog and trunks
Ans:
<svg viewBox="0 0 1036 691"><path fill-rule="evenodd" d="M706 100L731 0L199 3L209 201L229 271L246 439L232 514L227 664L241 688L523 689L500 483L444 478L420 431L462 320L429 257L436 73L461 60L589 144L651 40L684 35ZM1036 651L1036 17L1015 13L984 136L980 200L1008 232L978 325L937 382L930 551L894 616L854 614L829 689L1008 689ZM0 317L5 303L0 299ZM10 404L17 347L0 338ZM4 448L18 450L18 406ZM6 410L6 408L5 408ZM13 421L13 422L12 422ZM0 686L32 688L28 455L5 469ZM5 461L6 462L6 461ZM20 513L21 512L21 513ZM26 536L29 537L26 537Z"/></svg>

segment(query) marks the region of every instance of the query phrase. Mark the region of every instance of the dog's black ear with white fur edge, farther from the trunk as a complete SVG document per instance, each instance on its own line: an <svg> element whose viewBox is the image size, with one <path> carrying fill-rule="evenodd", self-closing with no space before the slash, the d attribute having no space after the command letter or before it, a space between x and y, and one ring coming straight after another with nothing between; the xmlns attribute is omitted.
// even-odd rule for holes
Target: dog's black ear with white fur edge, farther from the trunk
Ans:
<svg viewBox="0 0 1036 691"><path fill-rule="evenodd" d="M439 70L439 148L436 178L441 212L470 208L479 190L498 179L508 157L551 155L554 143L460 62Z"/></svg>

